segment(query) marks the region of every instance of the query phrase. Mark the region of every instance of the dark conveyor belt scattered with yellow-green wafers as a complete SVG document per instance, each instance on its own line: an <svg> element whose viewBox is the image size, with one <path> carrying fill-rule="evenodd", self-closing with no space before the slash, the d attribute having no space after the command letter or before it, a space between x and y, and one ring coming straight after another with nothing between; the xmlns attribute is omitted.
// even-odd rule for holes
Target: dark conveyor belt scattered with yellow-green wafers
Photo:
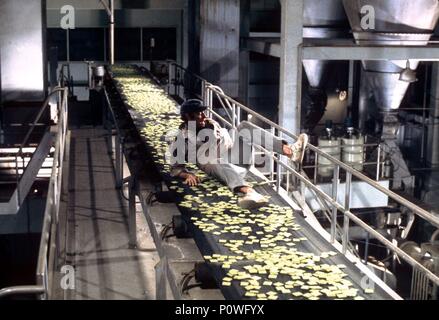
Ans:
<svg viewBox="0 0 439 320"><path fill-rule="evenodd" d="M380 287L361 288L363 274L293 212L269 185L255 188L270 206L243 210L237 197L195 165L203 183L172 179L165 134L180 123L177 104L135 67L111 70L117 91L145 148L177 205L226 299L390 299ZM249 177L257 184L258 178ZM364 281L363 281L364 282Z"/></svg>

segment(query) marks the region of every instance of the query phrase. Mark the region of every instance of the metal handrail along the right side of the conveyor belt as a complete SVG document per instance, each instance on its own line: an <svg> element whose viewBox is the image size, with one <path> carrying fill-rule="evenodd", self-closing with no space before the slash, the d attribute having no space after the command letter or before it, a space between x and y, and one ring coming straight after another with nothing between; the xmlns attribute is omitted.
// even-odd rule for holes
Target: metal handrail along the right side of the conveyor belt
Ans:
<svg viewBox="0 0 439 320"><path fill-rule="evenodd" d="M184 68L178 66L176 63L172 62L171 65L172 64L175 66L175 68L181 68L181 69L184 70ZM272 131L271 133L273 133L273 130L278 130L279 135L280 135L280 133L282 133L282 134L284 134L287 137L293 138L294 140L298 139L297 135L289 132L288 130L286 130L285 128L279 126L278 124L274 123L273 121L271 121L271 120L261 116L260 114L256 113L255 111L251 110L250 108L244 106L240 102L230 98L229 96L224 94L222 92L222 90L218 90L218 88L216 86L212 85L211 83L207 82L206 80L204 80L204 82L202 83L202 86L203 86L202 89L205 91L203 93L203 97L205 99L205 103L207 104L207 106L209 108L209 112L210 113L215 113L216 115L219 115L215 111L213 111L213 94L215 94L217 96L217 98L224 99L224 100L228 101L229 105L231 104L231 106L233 108L233 111L234 111L233 112L234 114L233 114L233 119L230 119L231 123L226 121L226 123L228 123L229 125L235 126L235 125L237 125L236 122L238 122L238 124L239 124L239 118L237 119L237 115L235 114L235 111L237 111L238 117L239 117L240 110L244 110L245 112L247 112L248 114L252 115L253 117L259 119L263 123L268 124L271 127L271 131ZM220 116L220 118L222 118L222 117ZM225 120L225 119L222 118L222 120ZM261 129L265 130L263 128L261 128ZM265 131L267 131L267 130L265 130ZM369 184L373 188L375 188L378 191L380 191L380 192L384 193L385 195L387 195L389 198L395 200L401 206L410 209L416 215L420 216L421 218L425 219L426 221L432 223L433 225L435 225L437 227L439 227L439 218L434 216L432 213L422 209L421 207L415 205L414 203L408 201L407 199L399 196L398 194L392 192L391 190L388 190L388 189L384 188L379 183L377 183L374 180L370 179L369 177L367 177L366 175L362 174L361 172L359 172L359 171L349 167L348 165L346 165L342 161L336 159L335 157L333 157L333 156L327 154L326 152L320 150L316 146L314 146L312 144L308 144L308 148L311 151L314 151L318 156L322 156L322 157L328 159L334 165L334 178L333 178L333 194L332 194L332 197L329 196L328 194L326 194L325 192L323 192L317 186L315 186L309 179L304 177L301 173L299 173L298 171L296 171L295 169L293 169L289 165L285 164L281 160L281 157L273 156L270 152L267 152L266 150L264 150L262 148L263 152L268 157L270 157L272 159L272 161L274 161L274 162L276 162L278 164L277 179L276 179L277 180L277 188L280 189L280 187L281 187L281 178L280 178L280 175L281 175L281 172L282 172L281 168L284 168L289 173L292 173L304 185L306 185L308 188L313 190L317 195L319 195L322 200L324 200L328 204L330 204L332 206L332 208L333 208L333 212L332 212L332 219L333 220L332 220L332 223L331 223L331 242L332 243L335 242L335 232L336 232L336 229L335 229L334 223L336 223L336 214L337 214L337 211L342 212L343 216L344 216L344 222L343 222L343 229L344 230L343 230L343 237L342 237L342 247L343 248L342 248L342 251L343 251L344 254L347 252L347 246L348 246L348 242L349 242L349 238L348 238L349 221L352 221L356 225L362 227L369 234L375 236L376 239L378 239L380 242L382 242L387 248L391 249L398 256L402 257L402 259L405 260L407 263L409 263L412 267L420 269L423 273L426 274L426 276L431 281L433 281L436 284L439 284L439 277L438 276L436 276L430 270L425 268L423 265L421 265L419 262L417 262L415 259L413 259L410 255L408 255L403 250L398 248L398 246L396 246L391 241L386 239L379 232L377 232L374 228L370 227L367 223L362 221L360 218L355 216L350 211L350 192L351 192L352 177L354 176L354 177L362 180L363 182L366 182L367 184ZM344 206L337 202L337 191L338 191L338 184L339 184L338 181L339 181L340 168L345 170L345 172L346 172L346 186L345 186L346 190L345 190L345 204L344 204Z"/></svg>

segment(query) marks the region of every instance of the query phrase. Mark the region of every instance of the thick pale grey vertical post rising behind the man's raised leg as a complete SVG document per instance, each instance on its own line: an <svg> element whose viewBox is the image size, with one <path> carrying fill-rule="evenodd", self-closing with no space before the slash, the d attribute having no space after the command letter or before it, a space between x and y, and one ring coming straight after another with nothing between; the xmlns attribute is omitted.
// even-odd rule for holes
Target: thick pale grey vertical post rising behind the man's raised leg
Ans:
<svg viewBox="0 0 439 320"><path fill-rule="evenodd" d="M279 125L297 134L300 131L304 0L282 0Z"/></svg>

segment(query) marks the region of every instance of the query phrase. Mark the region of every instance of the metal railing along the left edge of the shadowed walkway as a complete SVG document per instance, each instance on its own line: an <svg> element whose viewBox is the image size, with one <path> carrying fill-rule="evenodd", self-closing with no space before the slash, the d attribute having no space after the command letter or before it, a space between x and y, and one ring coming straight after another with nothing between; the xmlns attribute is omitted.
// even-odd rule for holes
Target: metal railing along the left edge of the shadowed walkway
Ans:
<svg viewBox="0 0 439 320"><path fill-rule="evenodd" d="M58 255L55 250L58 249L58 216L68 125L68 90L67 88L56 88L49 96L57 92L59 93L57 98L58 123L56 127L52 128L52 130L56 130L54 140L55 152L47 192L46 207L44 210L43 228L36 269L36 284L1 289L0 299L23 294L37 294L38 299L47 299L50 294L50 287L57 266ZM47 104L45 103L45 105ZM43 109L42 107L40 110ZM40 116L40 113L38 116ZM36 121L34 123L36 123ZM24 141L26 141L26 139L24 139ZM51 246L51 244L53 244L53 246Z"/></svg>

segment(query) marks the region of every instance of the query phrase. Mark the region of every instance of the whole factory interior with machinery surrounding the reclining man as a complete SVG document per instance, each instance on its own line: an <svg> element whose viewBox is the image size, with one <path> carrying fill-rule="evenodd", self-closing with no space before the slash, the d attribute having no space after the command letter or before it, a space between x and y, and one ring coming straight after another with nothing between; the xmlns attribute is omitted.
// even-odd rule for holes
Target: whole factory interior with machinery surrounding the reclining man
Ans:
<svg viewBox="0 0 439 320"><path fill-rule="evenodd" d="M0 0L0 300L439 300L438 20L437 0ZM172 175L190 99L309 137L301 163L253 141L267 205Z"/></svg>

